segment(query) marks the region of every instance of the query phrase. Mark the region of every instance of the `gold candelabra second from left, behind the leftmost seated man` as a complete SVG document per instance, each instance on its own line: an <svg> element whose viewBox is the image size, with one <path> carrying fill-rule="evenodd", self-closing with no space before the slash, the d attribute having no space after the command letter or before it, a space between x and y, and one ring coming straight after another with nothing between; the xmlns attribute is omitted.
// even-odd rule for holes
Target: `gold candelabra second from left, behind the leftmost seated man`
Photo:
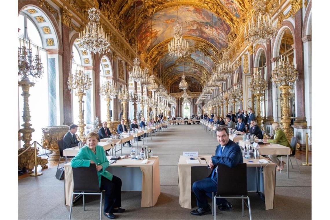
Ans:
<svg viewBox="0 0 330 220"><path fill-rule="evenodd" d="M87 74L84 74L82 70L76 70L75 74L70 74L68 78L68 88L73 91L75 90L75 95L78 96L79 103L79 123L78 131L80 140L85 139L85 126L84 117L82 112L83 96L86 95L84 90L89 90L92 85L92 80Z"/></svg>

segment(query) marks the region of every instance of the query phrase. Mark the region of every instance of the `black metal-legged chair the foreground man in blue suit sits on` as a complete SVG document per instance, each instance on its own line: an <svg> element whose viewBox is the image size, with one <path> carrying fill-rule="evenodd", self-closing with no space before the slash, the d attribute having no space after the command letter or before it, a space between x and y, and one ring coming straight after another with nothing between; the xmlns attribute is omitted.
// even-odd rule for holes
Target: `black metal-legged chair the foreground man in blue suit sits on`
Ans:
<svg viewBox="0 0 330 220"><path fill-rule="evenodd" d="M229 168L226 165L218 164L218 186L216 195L212 193L212 213L216 219L216 199L242 199L242 216L244 216L244 199L248 200L248 210L250 220L251 206L247 188L247 164L238 164Z"/></svg>

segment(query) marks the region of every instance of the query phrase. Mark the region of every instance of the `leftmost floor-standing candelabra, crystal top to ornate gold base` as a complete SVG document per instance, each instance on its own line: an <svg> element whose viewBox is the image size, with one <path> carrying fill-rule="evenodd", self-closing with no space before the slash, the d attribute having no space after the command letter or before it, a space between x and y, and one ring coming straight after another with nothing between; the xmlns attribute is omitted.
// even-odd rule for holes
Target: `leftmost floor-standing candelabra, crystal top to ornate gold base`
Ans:
<svg viewBox="0 0 330 220"><path fill-rule="evenodd" d="M31 44L27 47L27 43L25 46L25 39L23 39L23 47L21 47L21 40L19 40L18 47L18 76L20 76L20 80L18 81L18 86L22 88L23 93L23 128L19 129L19 133L22 133L22 140L24 141L24 145L22 148L18 150L18 168L26 168L28 173L33 173L33 167L37 166L37 164L41 165L43 168L47 168L47 159L42 159L41 157L37 157L37 150L33 147L30 147L30 141L32 141L32 133L34 129L31 128L30 119L30 107L29 107L29 90L30 87L34 86L34 82L29 80L29 76L34 78L41 78L44 73L43 66L40 59L39 48L37 47L36 55L33 57ZM35 145L36 147L36 145ZM36 161L37 160L37 161ZM37 176L42 173L33 173L30 175Z"/></svg>

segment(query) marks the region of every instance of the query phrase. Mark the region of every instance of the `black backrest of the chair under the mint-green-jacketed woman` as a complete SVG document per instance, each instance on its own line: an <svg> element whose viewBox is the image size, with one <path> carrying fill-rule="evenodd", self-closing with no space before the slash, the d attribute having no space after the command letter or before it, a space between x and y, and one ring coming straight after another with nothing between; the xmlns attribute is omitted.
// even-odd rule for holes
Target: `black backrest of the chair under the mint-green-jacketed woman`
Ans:
<svg viewBox="0 0 330 220"><path fill-rule="evenodd" d="M100 192L95 164L90 164L89 167L72 168L72 173L74 191Z"/></svg>

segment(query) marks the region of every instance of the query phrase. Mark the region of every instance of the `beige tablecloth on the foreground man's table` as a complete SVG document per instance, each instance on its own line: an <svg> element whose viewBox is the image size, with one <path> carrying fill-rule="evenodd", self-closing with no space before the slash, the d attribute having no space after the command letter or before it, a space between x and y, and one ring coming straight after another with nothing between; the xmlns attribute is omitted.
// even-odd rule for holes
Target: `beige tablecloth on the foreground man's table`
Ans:
<svg viewBox="0 0 330 220"><path fill-rule="evenodd" d="M210 155L199 156L199 158L204 157L206 161L211 160ZM179 177L179 203L183 208L192 208L191 207L191 167L192 166L207 166L207 164L200 161L200 164L187 164L186 160L189 157L180 156L178 163L178 177ZM248 162L254 161L253 163ZM276 172L275 167L276 164L259 164L259 159L244 159L244 163L247 164L247 167L263 167L263 178L264 178L264 192L265 192L265 209L273 209L274 204L274 195L275 195L275 180L276 180Z"/></svg>

